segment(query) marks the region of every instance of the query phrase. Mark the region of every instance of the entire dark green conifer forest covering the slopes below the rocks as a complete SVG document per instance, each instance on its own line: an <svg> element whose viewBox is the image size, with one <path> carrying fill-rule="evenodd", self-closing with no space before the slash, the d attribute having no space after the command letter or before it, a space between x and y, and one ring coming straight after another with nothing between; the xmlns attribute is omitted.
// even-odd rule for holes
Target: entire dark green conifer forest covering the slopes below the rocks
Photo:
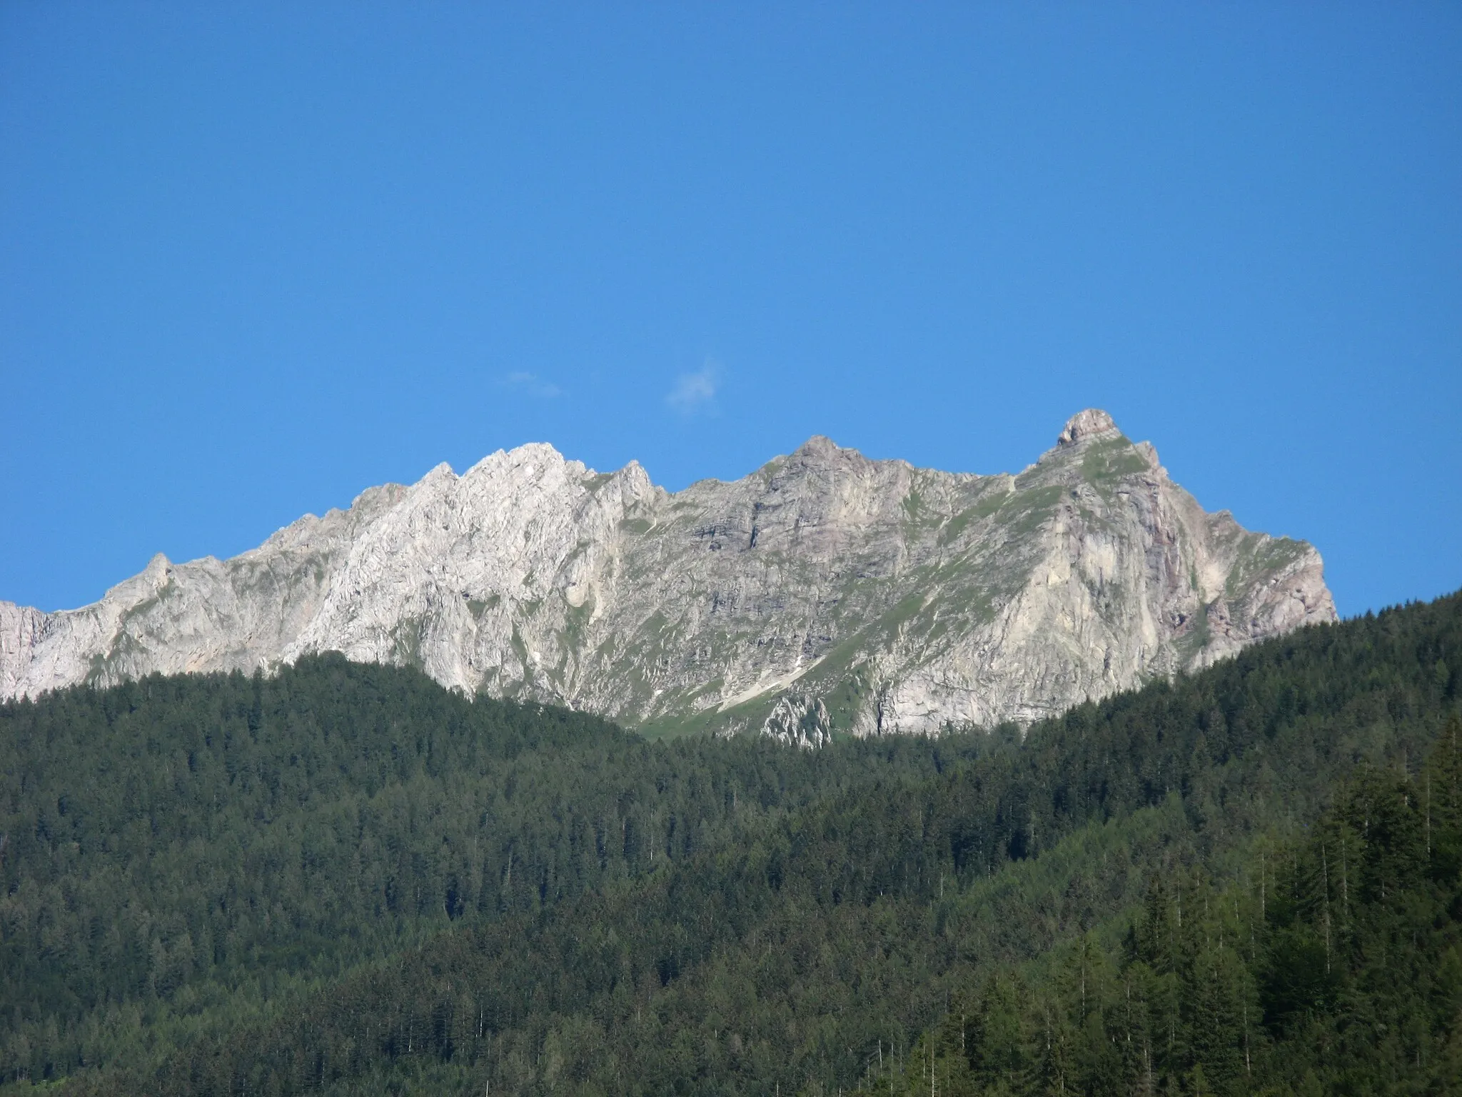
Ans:
<svg viewBox="0 0 1462 1097"><path fill-rule="evenodd" d="M649 743L339 657L0 706L16 1093L1446 1093L1462 597Z"/></svg>

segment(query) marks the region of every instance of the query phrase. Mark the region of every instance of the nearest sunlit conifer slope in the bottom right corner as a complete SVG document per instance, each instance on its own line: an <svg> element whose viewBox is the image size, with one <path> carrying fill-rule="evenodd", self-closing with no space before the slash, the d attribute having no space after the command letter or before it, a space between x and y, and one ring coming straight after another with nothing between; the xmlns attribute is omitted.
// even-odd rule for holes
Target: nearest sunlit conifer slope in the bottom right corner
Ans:
<svg viewBox="0 0 1462 1097"><path fill-rule="evenodd" d="M1459 1091L1462 720L1418 775L1363 768L1237 879L1152 876L1127 924L966 983L860 1091Z"/></svg>

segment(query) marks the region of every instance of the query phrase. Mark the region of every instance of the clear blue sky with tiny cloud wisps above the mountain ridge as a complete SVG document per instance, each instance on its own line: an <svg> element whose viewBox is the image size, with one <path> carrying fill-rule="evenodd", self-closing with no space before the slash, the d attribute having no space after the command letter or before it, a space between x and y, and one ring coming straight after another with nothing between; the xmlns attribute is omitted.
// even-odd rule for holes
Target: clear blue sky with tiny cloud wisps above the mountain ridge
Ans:
<svg viewBox="0 0 1462 1097"><path fill-rule="evenodd" d="M0 598L1091 405L1342 614L1462 585L1462 4L0 4Z"/></svg>

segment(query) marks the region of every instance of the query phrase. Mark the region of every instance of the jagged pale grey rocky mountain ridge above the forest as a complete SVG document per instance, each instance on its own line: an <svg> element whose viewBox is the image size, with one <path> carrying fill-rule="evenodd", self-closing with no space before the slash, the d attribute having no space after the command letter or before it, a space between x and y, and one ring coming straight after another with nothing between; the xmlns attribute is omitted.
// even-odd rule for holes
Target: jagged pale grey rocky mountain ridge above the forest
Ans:
<svg viewBox="0 0 1462 1097"><path fill-rule="evenodd" d="M813 437L668 493L551 446L364 491L94 606L0 603L0 696L306 652L414 664L649 731L1031 721L1335 620L1320 556L1205 513L1102 411L1019 475Z"/></svg>

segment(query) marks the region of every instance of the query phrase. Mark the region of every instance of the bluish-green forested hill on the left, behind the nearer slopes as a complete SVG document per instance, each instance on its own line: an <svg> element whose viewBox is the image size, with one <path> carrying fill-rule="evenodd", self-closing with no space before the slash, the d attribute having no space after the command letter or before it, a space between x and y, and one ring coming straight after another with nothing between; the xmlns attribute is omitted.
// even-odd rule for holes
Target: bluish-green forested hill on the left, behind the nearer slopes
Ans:
<svg viewBox="0 0 1462 1097"><path fill-rule="evenodd" d="M975 750L651 744L311 657L0 705L0 1069L44 1079L272 1014L465 921L655 873L844 784Z"/></svg>

